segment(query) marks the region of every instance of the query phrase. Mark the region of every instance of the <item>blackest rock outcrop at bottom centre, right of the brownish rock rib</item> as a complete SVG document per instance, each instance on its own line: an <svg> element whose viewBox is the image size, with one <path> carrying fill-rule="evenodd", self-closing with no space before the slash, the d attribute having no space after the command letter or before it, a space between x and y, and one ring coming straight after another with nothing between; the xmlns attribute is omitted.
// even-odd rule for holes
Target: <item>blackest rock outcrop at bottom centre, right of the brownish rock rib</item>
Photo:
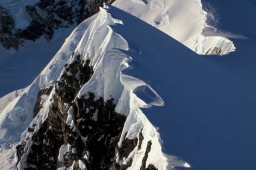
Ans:
<svg viewBox="0 0 256 170"><path fill-rule="evenodd" d="M113 99L104 102L102 97L95 100L94 94L88 95L88 99L83 97L73 105L76 127L81 136L87 138L85 144L89 156L86 165L89 169L110 169L116 162L115 148L126 117L114 112Z"/></svg>

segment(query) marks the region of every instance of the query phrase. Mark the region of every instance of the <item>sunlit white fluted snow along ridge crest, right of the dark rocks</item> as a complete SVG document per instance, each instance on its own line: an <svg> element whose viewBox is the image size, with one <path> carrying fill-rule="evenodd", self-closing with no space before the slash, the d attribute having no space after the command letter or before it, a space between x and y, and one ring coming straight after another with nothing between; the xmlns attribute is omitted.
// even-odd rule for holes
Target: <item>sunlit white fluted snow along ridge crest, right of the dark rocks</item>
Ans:
<svg viewBox="0 0 256 170"><path fill-rule="evenodd" d="M128 62L131 58L120 50L128 50L128 43L108 26L122 24L122 22L113 19L107 10L101 8L99 17L87 29L86 34L76 49L76 55L83 55L84 61L90 59L90 63L94 68L93 77L81 88L78 97L88 92L94 93L96 99L104 96L105 101L113 97L115 99L114 103L117 104L116 112L128 115L119 141L119 147L122 147L121 144L126 133L126 138L134 139L139 138L139 133L142 132L143 136L145 136L144 140L152 141L154 146L151 151L152 155L149 154L146 167L152 164L158 169L166 169L167 158L161 152L160 138L157 130L149 123L139 109L146 108L148 105L133 93L136 87L146 85L146 83L122 73L125 68L129 67ZM98 41L95 42L95 40ZM163 105L163 103L160 105ZM131 159L136 160L128 169L139 169L146 146L147 143L143 142L142 151L134 148L125 160L120 160L119 156L117 156L117 162L121 165L128 163Z"/></svg>

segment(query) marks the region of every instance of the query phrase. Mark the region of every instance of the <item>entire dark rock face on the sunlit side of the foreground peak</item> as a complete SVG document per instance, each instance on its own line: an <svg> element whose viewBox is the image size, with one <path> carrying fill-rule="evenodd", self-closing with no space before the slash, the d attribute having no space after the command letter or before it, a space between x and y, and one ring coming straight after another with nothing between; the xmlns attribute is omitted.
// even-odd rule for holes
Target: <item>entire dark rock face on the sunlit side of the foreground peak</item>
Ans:
<svg viewBox="0 0 256 170"><path fill-rule="evenodd" d="M138 139L125 139L122 148L118 148L126 117L114 111L113 98L104 102L102 97L96 100L93 93L76 98L92 77L93 68L89 60L80 61L80 55L73 57L76 61L66 65L56 83L48 118L33 133L32 144L28 146L26 139L16 147L18 161L25 163L25 169L126 169L130 163L119 165L116 155L128 157ZM51 90L40 91L39 99ZM41 106L36 106L38 112ZM29 127L28 132L33 132L33 128ZM68 149L60 153L61 146ZM26 147L30 149L24 151Z"/></svg>

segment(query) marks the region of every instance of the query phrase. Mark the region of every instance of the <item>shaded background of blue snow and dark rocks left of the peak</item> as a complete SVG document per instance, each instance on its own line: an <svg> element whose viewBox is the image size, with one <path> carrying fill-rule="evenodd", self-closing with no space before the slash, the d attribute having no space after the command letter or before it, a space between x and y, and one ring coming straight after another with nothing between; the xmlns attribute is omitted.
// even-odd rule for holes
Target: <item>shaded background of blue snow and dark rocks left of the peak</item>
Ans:
<svg viewBox="0 0 256 170"><path fill-rule="evenodd" d="M0 97L30 85L103 2L113 1L0 1Z"/></svg>

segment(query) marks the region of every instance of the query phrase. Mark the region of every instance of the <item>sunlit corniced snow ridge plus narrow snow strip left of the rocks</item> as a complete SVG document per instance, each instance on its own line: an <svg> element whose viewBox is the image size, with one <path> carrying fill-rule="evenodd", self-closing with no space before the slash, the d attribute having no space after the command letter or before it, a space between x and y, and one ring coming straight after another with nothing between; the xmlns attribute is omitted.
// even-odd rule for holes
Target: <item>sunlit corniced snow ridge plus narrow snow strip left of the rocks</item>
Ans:
<svg viewBox="0 0 256 170"><path fill-rule="evenodd" d="M125 53L131 51L131 47L128 41L114 31L113 26L122 25L123 22L114 19L111 16L112 11L114 9L108 5L101 8L99 16L89 26L74 54L67 62L67 65L70 65L77 61L75 56L81 56L82 61L90 60L90 65L93 66L93 76L89 82L83 85L75 98L80 99L88 93L93 93L95 100L99 97L104 97L104 101L114 99L116 112L128 116L118 143L119 147L122 147L122 142L125 139L133 140L143 136L143 141L133 148L128 157L121 159L119 154L116 155L116 161L119 165L125 165L133 160L128 169L140 169L142 162L145 161L144 157L147 155L145 165L143 165L145 167L151 165L158 169L172 169L175 166L189 167L189 164L183 160L173 159L173 157L170 159L161 151L160 135L140 109L152 105L163 106L164 102L147 83L124 73L126 69L131 68L129 62L132 61L132 58ZM153 102L146 103L137 97L136 93L138 91L143 92L143 90L151 91ZM34 132L40 129L43 121L48 117L48 108L51 105L54 91L52 90L48 100L40 110L39 116L34 118L30 125L32 127L33 124L36 124ZM31 141L31 133L27 132L25 138L28 139L26 145L28 148L26 147L25 150L29 153L30 145L33 142ZM25 167L23 162L26 157L27 154L24 154L19 162L19 169Z"/></svg>

